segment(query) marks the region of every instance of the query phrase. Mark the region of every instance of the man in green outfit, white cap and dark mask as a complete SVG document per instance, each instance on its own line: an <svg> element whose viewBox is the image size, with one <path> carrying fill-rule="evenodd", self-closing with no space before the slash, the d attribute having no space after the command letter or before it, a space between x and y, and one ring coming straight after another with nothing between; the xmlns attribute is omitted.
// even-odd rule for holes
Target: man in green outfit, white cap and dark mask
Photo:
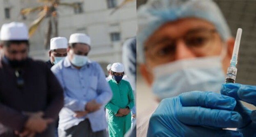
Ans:
<svg viewBox="0 0 256 137"><path fill-rule="evenodd" d="M131 127L130 109L134 106L133 89L130 83L122 80L123 64L114 63L111 66L112 79L108 81L113 97L105 105L108 109L108 130L110 137L123 137Z"/></svg>

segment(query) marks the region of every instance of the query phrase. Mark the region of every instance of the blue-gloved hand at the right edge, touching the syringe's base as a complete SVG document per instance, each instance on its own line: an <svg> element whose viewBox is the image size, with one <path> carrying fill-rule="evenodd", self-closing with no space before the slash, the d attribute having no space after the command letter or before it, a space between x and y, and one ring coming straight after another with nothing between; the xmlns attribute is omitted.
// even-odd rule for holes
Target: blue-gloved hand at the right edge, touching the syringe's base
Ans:
<svg viewBox="0 0 256 137"><path fill-rule="evenodd" d="M256 86L238 83L223 84L221 93L256 106ZM238 131L242 132L244 137L256 137L256 111L245 108L239 101L237 101L235 111L242 116Z"/></svg>

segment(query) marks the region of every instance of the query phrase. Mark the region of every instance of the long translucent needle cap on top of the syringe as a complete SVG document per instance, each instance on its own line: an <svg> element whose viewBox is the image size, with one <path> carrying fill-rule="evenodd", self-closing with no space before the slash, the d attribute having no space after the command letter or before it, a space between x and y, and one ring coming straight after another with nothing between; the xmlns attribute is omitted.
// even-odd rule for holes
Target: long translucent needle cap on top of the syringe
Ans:
<svg viewBox="0 0 256 137"><path fill-rule="evenodd" d="M233 55L232 55L232 58L231 58L230 66L235 67L236 64L237 64L238 51L239 51L241 36L242 36L242 29L238 28L238 31L237 31L236 37L235 37L235 46L234 46L234 49L233 49Z"/></svg>

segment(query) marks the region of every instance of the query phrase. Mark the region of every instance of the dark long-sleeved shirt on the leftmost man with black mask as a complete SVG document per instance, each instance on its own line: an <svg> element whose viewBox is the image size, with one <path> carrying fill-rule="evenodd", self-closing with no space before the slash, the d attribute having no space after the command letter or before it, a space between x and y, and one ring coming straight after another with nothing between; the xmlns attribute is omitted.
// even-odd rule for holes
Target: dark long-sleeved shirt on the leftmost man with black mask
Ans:
<svg viewBox="0 0 256 137"><path fill-rule="evenodd" d="M63 107L63 89L48 66L28 58L20 72L22 88L17 86L15 69L0 62L0 123L22 130L27 120L23 112L43 111L44 117L57 118Z"/></svg>

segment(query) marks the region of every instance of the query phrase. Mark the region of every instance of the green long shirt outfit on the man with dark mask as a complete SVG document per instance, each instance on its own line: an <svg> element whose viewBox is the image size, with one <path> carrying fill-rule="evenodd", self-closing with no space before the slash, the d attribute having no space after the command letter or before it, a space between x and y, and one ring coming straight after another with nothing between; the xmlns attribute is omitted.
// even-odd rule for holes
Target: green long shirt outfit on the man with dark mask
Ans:
<svg viewBox="0 0 256 137"><path fill-rule="evenodd" d="M123 117L116 117L119 108L126 108L127 106L131 109L134 106L133 90L130 83L121 80L117 83L111 79L108 81L110 88L113 92L113 97L109 103L105 105L108 112L108 130L110 137L123 137L125 133L130 129L131 126L131 114L129 113Z"/></svg>

